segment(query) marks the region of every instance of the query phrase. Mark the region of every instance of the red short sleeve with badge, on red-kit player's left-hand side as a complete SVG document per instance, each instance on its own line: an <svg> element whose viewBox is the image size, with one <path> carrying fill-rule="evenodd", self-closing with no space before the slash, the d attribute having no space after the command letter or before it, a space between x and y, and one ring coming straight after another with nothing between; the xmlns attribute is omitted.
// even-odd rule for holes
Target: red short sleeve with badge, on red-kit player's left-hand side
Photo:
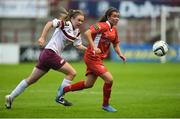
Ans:
<svg viewBox="0 0 180 119"><path fill-rule="evenodd" d="M96 34L96 33L102 33L108 30L109 27L106 24L99 22L99 23L91 25L89 29L91 30L92 34Z"/></svg>

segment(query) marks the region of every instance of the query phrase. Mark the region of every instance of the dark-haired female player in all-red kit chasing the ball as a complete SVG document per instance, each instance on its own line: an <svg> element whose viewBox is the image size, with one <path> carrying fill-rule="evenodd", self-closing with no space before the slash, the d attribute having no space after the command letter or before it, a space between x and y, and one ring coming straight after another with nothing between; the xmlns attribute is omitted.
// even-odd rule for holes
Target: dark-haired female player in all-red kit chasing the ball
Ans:
<svg viewBox="0 0 180 119"><path fill-rule="evenodd" d="M104 66L103 59L107 57L110 44L112 43L117 55L124 62L126 61L126 57L122 54L119 48L120 41L115 28L119 21L119 15L120 13L116 8L110 8L98 23L91 25L85 32L85 36L89 42L88 49L84 55L84 61L87 66L86 80L61 87L60 96L63 96L64 93L69 91L91 88L97 77L100 76L104 80L102 108L108 112L117 111L109 104L113 77Z"/></svg>

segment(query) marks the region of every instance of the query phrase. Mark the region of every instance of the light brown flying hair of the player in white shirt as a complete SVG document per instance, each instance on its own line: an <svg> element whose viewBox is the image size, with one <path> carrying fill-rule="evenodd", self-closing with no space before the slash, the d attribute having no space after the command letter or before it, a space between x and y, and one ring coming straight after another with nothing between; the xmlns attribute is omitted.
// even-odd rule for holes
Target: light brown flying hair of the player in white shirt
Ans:
<svg viewBox="0 0 180 119"><path fill-rule="evenodd" d="M78 15L83 15L84 13L81 10L73 10L70 9L67 11L63 7L60 8L60 19L63 19L65 21L69 21L71 18L76 18Z"/></svg>

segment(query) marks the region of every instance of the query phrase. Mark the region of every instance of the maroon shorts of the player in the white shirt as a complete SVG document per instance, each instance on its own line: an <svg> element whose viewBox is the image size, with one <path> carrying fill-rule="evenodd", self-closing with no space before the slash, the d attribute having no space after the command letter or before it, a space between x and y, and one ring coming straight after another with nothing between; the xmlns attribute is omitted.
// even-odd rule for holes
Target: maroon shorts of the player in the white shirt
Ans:
<svg viewBox="0 0 180 119"><path fill-rule="evenodd" d="M36 67L43 71L49 71L49 69L51 68L54 70L58 70L65 63L66 61L59 55L57 55L53 50L44 49L39 56L39 61Z"/></svg>

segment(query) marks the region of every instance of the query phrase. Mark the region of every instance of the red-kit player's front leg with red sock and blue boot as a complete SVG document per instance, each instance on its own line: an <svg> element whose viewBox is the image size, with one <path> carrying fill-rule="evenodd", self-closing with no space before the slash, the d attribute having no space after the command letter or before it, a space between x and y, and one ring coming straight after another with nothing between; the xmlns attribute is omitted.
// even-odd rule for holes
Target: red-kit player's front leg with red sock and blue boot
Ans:
<svg viewBox="0 0 180 119"><path fill-rule="evenodd" d="M111 87L113 84L113 77L110 72L105 72L101 74L100 77L104 80L102 108L108 112L116 112L117 110L109 105L109 99L111 96Z"/></svg>

